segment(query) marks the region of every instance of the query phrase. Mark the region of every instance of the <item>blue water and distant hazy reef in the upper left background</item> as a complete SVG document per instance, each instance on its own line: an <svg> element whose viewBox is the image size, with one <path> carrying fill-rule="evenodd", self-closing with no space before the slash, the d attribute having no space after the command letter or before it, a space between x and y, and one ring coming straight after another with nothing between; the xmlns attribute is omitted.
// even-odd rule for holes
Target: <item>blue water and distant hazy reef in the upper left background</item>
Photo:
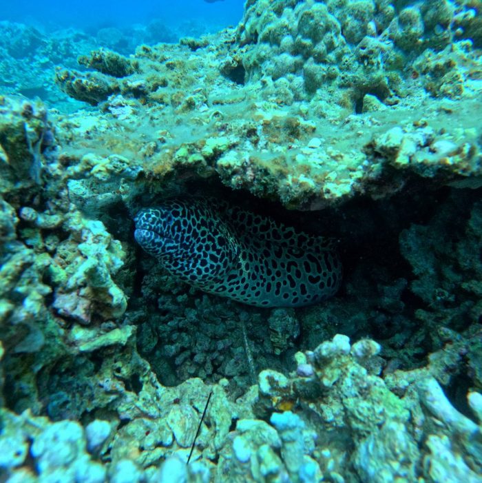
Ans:
<svg viewBox="0 0 482 483"><path fill-rule="evenodd" d="M128 56L139 45L216 34L237 25L242 11L242 0L0 0L0 95L63 112L88 108L55 84L56 68L86 70L78 57L98 48Z"/></svg>

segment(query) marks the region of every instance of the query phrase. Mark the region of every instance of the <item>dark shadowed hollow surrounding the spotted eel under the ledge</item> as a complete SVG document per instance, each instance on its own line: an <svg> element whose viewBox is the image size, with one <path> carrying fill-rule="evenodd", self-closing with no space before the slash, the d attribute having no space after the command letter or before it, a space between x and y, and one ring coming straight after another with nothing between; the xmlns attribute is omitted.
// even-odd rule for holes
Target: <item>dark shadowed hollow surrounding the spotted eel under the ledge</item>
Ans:
<svg viewBox="0 0 482 483"><path fill-rule="evenodd" d="M383 183L384 180L380 182ZM388 185L388 188L390 186ZM412 225L428 225L434 214L437 214L437 210L441 209L441 206L451 196L453 189L443 187L430 190L425 181L419 181L415 178L406 182L403 192L383 200L374 201L366 196L345 203L342 207L325 209L319 212L290 211L277 203L260 202L258 198L254 198L246 192L231 192L215 183L211 185L211 190L206 190L202 185L196 186L196 183L192 183L186 191L197 196L206 195L220 198L229 201L231 205L238 205L255 214L271 216L271 218L287 226L293 226L297 230L311 234L334 236L340 240L339 253L344 265L344 283L337 296L323 304L326 311L332 313L325 322L330 322L333 319L333 323L330 322L330 327L319 329L319 338L310 338L310 330L302 327L299 343L298 340L293 340L296 345L293 350L314 349L317 344L333 336L335 330L346 333L352 340L364 337L379 340L384 347L388 347L392 351L392 356L389 356L389 358L396 358L398 351L401 348L403 349L406 343L410 343L419 328L414 317L415 311L424 306L423 300L410 290L410 282L416 277L410 263L401 255L399 236L404 229L410 229ZM460 191L457 192L457 196L460 193ZM182 194L176 194L176 196L183 197ZM158 199L149 199L147 196L142 196L142 198L138 198L138 207L156 205L159 202ZM134 243L134 240L132 243ZM155 272L156 261L142 251L138 251L137 254L140 256L140 260L137 260L136 263L143 267L142 273L149 276L149 274ZM162 276L162 272L160 272L160 275ZM161 278L160 280L167 279ZM395 291L395 295L390 295L390 287L397 285L397 280L403 281L401 283L402 288ZM143 283L146 282L143 281ZM238 372L234 376L232 371L231 373L224 373L225 364L222 360L216 359L212 360L211 372L206 373L203 369L204 362L201 361L199 364L197 362L200 359L198 356L202 355L202 351L194 348L198 342L198 337L192 342L185 342L183 351L170 353L166 349L174 347L174 344L177 343L172 342L173 337L176 340L189 338L189 334L193 332L197 333L198 336L203 336L202 318L207 314L209 319L210 310L214 310L213 315L216 316L216 310L220 307L223 310L227 308L235 315L235 318L240 311L247 311L251 317L257 317L261 321L259 325L266 329L266 324L263 324L262 321L266 321L266 318L269 317L270 309L247 307L229 302L225 298L205 296L202 292L189 289L182 284L174 285L177 291L171 293L171 289L165 284L165 281L158 285L153 284L152 276L149 283L150 287L147 291L140 291L144 294L142 300L139 302L131 300L129 305L132 304L131 307L137 308L148 307L149 318L154 318L155 327L158 327L159 342L154 349L149 349L149 351L143 353L143 356L151 363L151 367L158 374L161 383L176 385L186 378L195 376L207 381L218 380L222 377L231 381L238 376L246 376L242 372ZM138 290L137 293L139 293ZM388 294L385 296L388 302L381 303L380 296L384 294ZM176 298L179 300L176 301ZM397 304L392 306L390 298L395 300L398 306ZM162 302L160 302L161 299ZM202 302L203 299L209 300L209 304L205 305L205 302ZM362 305L359 305L359 302L362 302ZM176 311L180 310L176 308L178 306L183 306L193 313L196 312L196 327L194 327L193 322L193 327L190 328L189 322L186 322L186 316L182 312L180 312L180 315L176 315ZM297 309L295 311L297 317L302 317L300 315L302 310ZM346 325L343 320L344 317L347 316L347 320L348 317L355 320L356 310L363 316L362 325ZM203 311L205 311L204 314ZM319 321L319 325L320 327L323 325L322 320ZM255 335L251 329L258 331L257 327L253 323L249 331L249 338L255 351L257 363L255 369L256 371L261 371L266 367L273 369L273 361L269 359L271 353L269 353L269 349L264 349L262 345L262 340L269 339L269 333L266 332L262 337L259 334ZM397 338L401 331L404 332L405 338L402 342ZM233 345L233 338L236 337L236 334L237 329L231 329L227 336L227 338L231 338L231 345L227 345L225 349L220 351L222 356L231 360L235 360L239 356L239 354L236 355L231 352L234 349L237 350L238 347L235 344ZM209 334L207 338L210 338L210 344L215 339ZM425 364L428 353L439 349L438 346L433 345L430 338L420 340L422 342L417 345L416 351L406 349L399 367L419 367ZM415 343L415 340L413 342ZM242 349L242 345L239 347ZM210 356L209 350L211 349L205 351L208 358ZM244 349L242 351L244 352ZM289 351L286 350L282 353L282 357L277 358L277 369L275 370L287 370L286 361L291 360L292 357L289 357ZM189 364L192 361L196 363ZM196 366L196 364L198 365ZM246 364L240 364L239 367L245 369L245 366ZM240 369L236 370L239 371ZM238 382L236 383L238 384ZM242 382L242 384L245 384L245 382Z"/></svg>

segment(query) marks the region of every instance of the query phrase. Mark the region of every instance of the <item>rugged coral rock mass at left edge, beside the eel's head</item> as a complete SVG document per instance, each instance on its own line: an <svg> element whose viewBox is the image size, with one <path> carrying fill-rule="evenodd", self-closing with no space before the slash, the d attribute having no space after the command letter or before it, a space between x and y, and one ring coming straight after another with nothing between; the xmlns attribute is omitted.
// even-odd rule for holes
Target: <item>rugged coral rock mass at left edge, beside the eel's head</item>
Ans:
<svg viewBox="0 0 482 483"><path fill-rule="evenodd" d="M9 398L22 411L39 404L34 373L67 354L125 344L132 328L114 322L127 307L112 279L125 251L69 202L45 107L3 99L3 110L1 340L7 384L16 381ZM72 321L92 327L70 330Z"/></svg>

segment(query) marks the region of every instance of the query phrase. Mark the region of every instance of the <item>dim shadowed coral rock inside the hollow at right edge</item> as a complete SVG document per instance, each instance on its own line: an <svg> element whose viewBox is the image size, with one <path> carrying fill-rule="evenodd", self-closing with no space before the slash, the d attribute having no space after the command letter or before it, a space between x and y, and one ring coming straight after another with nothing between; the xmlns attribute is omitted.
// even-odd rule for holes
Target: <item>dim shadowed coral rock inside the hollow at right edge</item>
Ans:
<svg viewBox="0 0 482 483"><path fill-rule="evenodd" d="M463 196L452 196L430 224L413 225L400 235L401 252L416 277L410 290L426 307L416 314L424 325L434 322L434 311L438 324L455 329L459 329L461 317L477 322L481 314L482 266L473 254L482 249L482 204L474 203L468 219L465 213L457 219L453 213L465 212L464 202L467 199ZM454 224L461 225L461 240L447 237ZM443 245L435 241L441 234L446 240Z"/></svg>

